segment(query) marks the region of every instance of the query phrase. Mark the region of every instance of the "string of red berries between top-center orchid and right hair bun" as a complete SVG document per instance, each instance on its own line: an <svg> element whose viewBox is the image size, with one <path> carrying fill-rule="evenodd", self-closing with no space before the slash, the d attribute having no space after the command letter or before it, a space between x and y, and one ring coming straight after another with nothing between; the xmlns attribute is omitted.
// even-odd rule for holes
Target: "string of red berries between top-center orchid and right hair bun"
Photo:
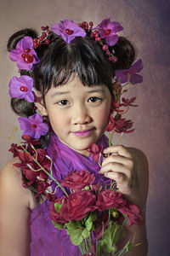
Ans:
<svg viewBox="0 0 170 256"><path fill-rule="evenodd" d="M90 33L90 38L94 38L95 41L99 42L100 45L102 45L103 51L105 51L105 54L108 55L109 61L112 61L115 63L117 61L117 57L111 53L111 50L109 49L109 45L105 43L104 38L100 38L99 36L99 30L96 28L93 28L94 22L90 21L89 23L86 21L83 21L82 23L79 23L78 26L82 27L86 32ZM107 29L105 31L105 35L108 36L111 33L110 29Z"/></svg>

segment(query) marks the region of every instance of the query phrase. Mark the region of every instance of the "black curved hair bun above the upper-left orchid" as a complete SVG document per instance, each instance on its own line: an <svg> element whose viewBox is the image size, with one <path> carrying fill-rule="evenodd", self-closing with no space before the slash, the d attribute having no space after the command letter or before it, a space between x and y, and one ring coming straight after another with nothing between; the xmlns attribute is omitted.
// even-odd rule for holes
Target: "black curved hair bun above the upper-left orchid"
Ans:
<svg viewBox="0 0 170 256"><path fill-rule="evenodd" d="M18 32L15 32L9 39L7 44L7 49L10 51L11 49L16 48L16 44L20 41L20 39L29 36L31 38L37 38L37 32L34 29L26 28L22 29Z"/></svg>

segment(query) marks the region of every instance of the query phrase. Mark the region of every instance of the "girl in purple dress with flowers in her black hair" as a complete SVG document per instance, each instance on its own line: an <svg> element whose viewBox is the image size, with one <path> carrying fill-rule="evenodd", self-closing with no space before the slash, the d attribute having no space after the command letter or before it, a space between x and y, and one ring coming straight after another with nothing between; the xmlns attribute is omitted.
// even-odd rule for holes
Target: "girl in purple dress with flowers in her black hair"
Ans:
<svg viewBox="0 0 170 256"><path fill-rule="evenodd" d="M42 26L39 38L31 29L14 33L8 40L8 50L10 59L17 61L20 78L11 79L9 94L14 112L21 116L20 127L28 148L31 144L39 148L39 161L48 166L40 149L45 148L59 182L75 170L88 170L103 183L115 180L122 195L136 204L144 217L146 157L137 148L109 146L104 135L108 123L110 128L113 125L111 113L118 111L120 103L122 87L115 79L116 71L128 69L130 73L135 58L133 45L116 34L121 30L122 26L110 19L96 28L92 22L77 26L64 20L54 24L52 32ZM128 122L121 126L120 114L116 118L117 131L126 132L132 126ZM90 154L94 152L93 143L105 148L107 157L101 156L101 166ZM32 152L32 148L29 150ZM0 255L82 255L65 230L55 229L49 218L53 195L47 191L54 190L53 183L49 186L44 173L37 176L31 172L32 161L19 153L20 147L13 144L10 151L16 157L3 168L0 179ZM60 189L55 192L62 194ZM126 231L127 236L117 247L134 239L140 245L127 255L146 255L145 224L126 224Z"/></svg>

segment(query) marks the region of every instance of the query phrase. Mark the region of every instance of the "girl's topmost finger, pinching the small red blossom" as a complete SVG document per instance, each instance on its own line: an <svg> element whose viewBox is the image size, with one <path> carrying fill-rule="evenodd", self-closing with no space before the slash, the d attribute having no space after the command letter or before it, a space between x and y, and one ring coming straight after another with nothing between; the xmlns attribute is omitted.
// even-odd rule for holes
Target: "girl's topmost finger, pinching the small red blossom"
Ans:
<svg viewBox="0 0 170 256"><path fill-rule="evenodd" d="M132 155L128 152L127 148L122 145L111 146L104 149L104 154L118 154L129 159L132 159Z"/></svg>

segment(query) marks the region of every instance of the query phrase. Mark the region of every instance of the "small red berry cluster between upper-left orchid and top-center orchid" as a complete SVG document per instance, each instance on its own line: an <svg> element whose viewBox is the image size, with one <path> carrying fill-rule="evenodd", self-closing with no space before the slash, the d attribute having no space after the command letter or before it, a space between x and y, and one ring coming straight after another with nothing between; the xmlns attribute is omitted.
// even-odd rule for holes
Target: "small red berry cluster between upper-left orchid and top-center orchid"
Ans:
<svg viewBox="0 0 170 256"><path fill-rule="evenodd" d="M38 46L42 44L49 44L48 35L51 33L48 26L42 26L42 35L39 38L33 38L34 49L37 49Z"/></svg>

